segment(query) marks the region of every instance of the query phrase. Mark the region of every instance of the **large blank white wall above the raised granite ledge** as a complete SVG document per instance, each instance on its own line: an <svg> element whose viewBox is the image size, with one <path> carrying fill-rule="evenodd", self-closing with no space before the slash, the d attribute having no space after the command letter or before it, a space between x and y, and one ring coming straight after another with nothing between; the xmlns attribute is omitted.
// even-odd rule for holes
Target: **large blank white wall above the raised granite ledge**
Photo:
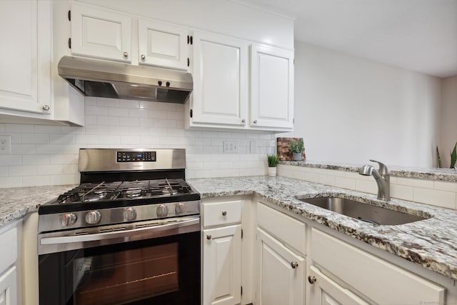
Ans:
<svg viewBox="0 0 457 305"><path fill-rule="evenodd" d="M312 161L431 167L441 79L295 42L295 131Z"/></svg>

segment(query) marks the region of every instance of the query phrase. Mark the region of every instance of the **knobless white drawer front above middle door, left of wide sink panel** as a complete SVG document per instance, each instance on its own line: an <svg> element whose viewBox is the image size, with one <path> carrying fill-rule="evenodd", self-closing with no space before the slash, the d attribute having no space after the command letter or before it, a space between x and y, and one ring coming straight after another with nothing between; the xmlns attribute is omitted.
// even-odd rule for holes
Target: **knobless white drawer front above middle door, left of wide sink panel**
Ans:
<svg viewBox="0 0 457 305"><path fill-rule="evenodd" d="M257 223L262 229L273 234L281 241L306 254L306 224L291 216L257 204Z"/></svg>

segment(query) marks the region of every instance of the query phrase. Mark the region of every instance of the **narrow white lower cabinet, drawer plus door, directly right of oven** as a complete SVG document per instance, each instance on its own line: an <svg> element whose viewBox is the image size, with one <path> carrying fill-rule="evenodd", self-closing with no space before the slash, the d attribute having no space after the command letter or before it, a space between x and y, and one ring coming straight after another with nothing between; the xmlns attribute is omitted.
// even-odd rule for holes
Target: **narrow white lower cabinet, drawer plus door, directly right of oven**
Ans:
<svg viewBox="0 0 457 305"><path fill-rule="evenodd" d="M204 305L241 303L241 200L204 202Z"/></svg>

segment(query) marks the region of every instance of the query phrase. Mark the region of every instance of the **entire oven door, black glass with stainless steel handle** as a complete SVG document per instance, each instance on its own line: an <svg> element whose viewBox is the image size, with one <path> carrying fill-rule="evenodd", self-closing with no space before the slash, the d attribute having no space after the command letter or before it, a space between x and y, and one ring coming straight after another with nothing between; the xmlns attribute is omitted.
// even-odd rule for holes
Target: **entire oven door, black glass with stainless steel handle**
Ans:
<svg viewBox="0 0 457 305"><path fill-rule="evenodd" d="M41 305L200 304L199 216L127 231L65 234L39 234Z"/></svg>

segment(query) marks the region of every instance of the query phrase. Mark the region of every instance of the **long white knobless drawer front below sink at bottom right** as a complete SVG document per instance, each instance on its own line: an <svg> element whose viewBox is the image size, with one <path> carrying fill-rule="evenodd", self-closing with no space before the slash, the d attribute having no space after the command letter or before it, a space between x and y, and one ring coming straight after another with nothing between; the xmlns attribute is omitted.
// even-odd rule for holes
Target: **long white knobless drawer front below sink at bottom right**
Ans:
<svg viewBox="0 0 457 305"><path fill-rule="evenodd" d="M312 229L311 257L376 304L443 304L445 289L416 274Z"/></svg>

